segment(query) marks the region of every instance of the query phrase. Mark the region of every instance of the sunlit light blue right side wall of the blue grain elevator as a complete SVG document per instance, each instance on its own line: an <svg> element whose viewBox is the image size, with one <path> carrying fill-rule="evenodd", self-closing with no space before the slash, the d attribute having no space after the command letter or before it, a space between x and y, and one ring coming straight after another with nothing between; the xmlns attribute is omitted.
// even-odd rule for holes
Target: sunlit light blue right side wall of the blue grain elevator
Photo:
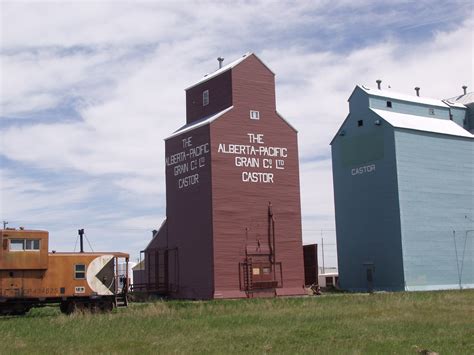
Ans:
<svg viewBox="0 0 474 355"><path fill-rule="evenodd" d="M474 140L397 130L395 145L407 289L458 288L461 270L474 287Z"/></svg>

